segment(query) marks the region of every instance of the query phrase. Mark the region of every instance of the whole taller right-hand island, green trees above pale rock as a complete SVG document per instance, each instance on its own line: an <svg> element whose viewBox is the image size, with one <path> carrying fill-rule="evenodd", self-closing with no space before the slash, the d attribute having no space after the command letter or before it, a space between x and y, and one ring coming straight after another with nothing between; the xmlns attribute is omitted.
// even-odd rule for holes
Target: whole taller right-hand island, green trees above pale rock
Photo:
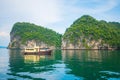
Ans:
<svg viewBox="0 0 120 80"><path fill-rule="evenodd" d="M62 38L62 49L120 49L120 24L111 25L89 15L77 19Z"/></svg>

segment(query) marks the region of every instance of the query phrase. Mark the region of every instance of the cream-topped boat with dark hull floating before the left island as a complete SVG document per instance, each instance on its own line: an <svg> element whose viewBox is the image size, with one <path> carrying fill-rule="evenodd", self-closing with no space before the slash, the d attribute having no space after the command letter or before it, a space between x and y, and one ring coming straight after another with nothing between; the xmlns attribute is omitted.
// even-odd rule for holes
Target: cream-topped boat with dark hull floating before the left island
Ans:
<svg viewBox="0 0 120 80"><path fill-rule="evenodd" d="M50 48L26 47L24 49L24 54L51 54L51 52Z"/></svg>

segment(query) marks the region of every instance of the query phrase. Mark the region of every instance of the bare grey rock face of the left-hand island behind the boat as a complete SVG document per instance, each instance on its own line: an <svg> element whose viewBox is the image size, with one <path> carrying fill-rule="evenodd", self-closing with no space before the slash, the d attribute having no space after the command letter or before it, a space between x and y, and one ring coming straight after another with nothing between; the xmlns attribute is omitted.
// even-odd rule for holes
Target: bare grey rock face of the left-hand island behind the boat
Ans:
<svg viewBox="0 0 120 80"><path fill-rule="evenodd" d="M11 35L12 37L12 35ZM28 40L24 44L21 42L20 36L15 36L11 38L8 48L10 49L24 49L26 47L35 47L39 46L40 48L50 48L55 49L55 46L48 45L44 42L35 41L35 40Z"/></svg>

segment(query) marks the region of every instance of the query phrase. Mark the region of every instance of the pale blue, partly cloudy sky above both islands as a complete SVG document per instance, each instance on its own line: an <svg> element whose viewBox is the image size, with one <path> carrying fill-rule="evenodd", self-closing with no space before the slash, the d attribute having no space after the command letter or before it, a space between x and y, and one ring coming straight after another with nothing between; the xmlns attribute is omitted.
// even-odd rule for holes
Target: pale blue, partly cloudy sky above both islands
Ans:
<svg viewBox="0 0 120 80"><path fill-rule="evenodd" d="M64 34L81 17L120 22L120 0L0 0L0 46L8 46L16 22L30 22Z"/></svg>

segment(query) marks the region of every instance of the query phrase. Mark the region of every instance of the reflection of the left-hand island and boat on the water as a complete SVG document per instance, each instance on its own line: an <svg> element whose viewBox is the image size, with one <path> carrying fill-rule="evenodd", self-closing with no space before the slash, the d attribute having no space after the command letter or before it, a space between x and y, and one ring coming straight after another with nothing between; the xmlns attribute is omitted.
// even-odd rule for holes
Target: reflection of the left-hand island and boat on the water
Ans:
<svg viewBox="0 0 120 80"><path fill-rule="evenodd" d="M10 50L10 73L15 79L42 79L33 77L32 73L42 73L52 70L54 64L52 55L24 55L19 50ZM14 78L13 78L14 79Z"/></svg>

